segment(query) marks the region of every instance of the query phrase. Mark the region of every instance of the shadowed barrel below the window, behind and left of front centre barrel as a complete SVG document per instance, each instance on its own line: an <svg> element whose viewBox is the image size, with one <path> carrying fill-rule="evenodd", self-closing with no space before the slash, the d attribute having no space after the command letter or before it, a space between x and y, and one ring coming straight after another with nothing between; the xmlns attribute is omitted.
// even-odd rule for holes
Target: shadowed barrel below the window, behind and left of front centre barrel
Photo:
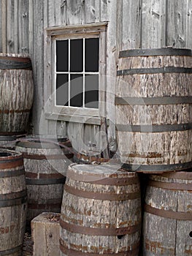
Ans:
<svg viewBox="0 0 192 256"><path fill-rule="evenodd" d="M71 163L54 143L26 139L16 143L23 153L28 191L27 224L42 212L60 212L66 169Z"/></svg>

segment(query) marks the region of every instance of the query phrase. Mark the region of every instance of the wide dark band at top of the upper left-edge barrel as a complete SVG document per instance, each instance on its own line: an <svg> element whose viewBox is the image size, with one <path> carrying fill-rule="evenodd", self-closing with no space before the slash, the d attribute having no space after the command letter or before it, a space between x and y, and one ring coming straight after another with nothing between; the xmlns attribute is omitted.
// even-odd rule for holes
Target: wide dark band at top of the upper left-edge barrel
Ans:
<svg viewBox="0 0 192 256"><path fill-rule="evenodd" d="M0 56L0 69L32 69L31 59Z"/></svg>

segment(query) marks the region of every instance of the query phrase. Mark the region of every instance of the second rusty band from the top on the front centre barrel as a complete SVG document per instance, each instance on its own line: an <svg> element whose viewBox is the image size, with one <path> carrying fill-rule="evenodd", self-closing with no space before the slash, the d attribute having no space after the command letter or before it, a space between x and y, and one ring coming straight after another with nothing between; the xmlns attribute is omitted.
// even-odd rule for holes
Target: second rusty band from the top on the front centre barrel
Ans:
<svg viewBox="0 0 192 256"><path fill-rule="evenodd" d="M124 200L134 200L140 198L140 192L125 193L125 194L112 194L112 193L99 193L91 191L83 191L80 189L75 189L74 187L69 187L64 185L66 192L77 197L85 197L95 200L108 200L108 201L124 201Z"/></svg>

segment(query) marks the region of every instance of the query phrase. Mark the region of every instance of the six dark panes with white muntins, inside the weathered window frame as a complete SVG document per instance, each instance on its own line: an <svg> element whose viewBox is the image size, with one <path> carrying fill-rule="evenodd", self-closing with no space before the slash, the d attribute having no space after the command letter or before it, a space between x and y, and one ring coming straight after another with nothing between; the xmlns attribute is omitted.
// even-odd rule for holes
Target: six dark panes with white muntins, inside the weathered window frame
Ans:
<svg viewBox="0 0 192 256"><path fill-rule="evenodd" d="M55 39L55 105L99 108L99 37Z"/></svg>

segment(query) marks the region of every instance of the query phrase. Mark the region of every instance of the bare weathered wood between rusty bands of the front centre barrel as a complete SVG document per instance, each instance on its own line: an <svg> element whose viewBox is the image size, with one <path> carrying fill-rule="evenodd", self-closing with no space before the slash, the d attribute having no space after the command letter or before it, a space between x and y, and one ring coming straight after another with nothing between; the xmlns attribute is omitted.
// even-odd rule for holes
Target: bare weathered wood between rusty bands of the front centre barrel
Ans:
<svg viewBox="0 0 192 256"><path fill-rule="evenodd" d="M133 178L136 173L128 173L118 170L119 165L77 165L69 166L66 184L72 189L80 189L85 192L98 192L100 195L112 193L123 195L128 192L139 192L139 183L130 185L101 185L95 184L103 178ZM81 178L78 178L81 176ZM93 182L93 183L92 183ZM133 200L99 200L91 197L72 195L64 190L61 208L61 220L69 225L79 227L91 227L108 229L110 227L131 227L139 225L141 221L140 197ZM76 252L116 254L133 250L139 243L139 230L124 236L94 236L88 233L82 235L79 232L71 232L60 228L62 244ZM138 252L132 252L137 255ZM61 252L61 255L65 255Z"/></svg>

